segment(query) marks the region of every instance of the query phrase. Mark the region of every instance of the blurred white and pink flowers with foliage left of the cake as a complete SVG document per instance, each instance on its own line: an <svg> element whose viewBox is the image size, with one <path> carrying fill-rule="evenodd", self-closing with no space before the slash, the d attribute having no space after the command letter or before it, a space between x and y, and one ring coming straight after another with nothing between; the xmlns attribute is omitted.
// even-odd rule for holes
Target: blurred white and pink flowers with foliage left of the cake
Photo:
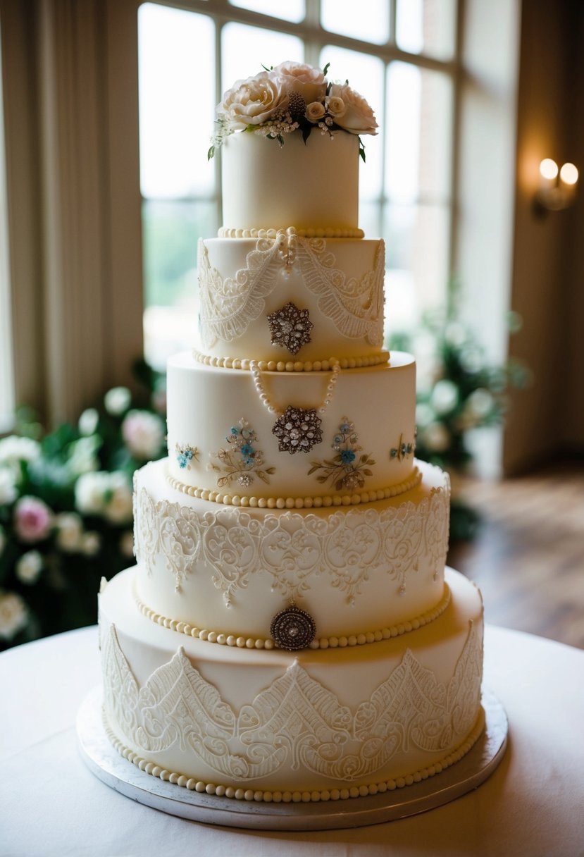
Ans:
<svg viewBox="0 0 584 857"><path fill-rule="evenodd" d="M134 470L166 454L164 376L43 436L22 409L0 440L0 649L97 619L102 576L133 562Z"/></svg>

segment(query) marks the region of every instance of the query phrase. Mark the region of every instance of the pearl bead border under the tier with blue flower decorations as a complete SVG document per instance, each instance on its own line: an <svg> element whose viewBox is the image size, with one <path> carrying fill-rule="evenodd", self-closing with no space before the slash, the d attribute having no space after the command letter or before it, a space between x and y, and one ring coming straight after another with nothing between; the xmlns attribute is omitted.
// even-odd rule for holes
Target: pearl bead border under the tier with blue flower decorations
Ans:
<svg viewBox="0 0 584 857"><path fill-rule="evenodd" d="M222 494L210 488L197 488L196 485L187 485L180 482L174 476L167 473L166 476L170 488L195 497L197 500L209 500L212 503L223 503L223 506L243 506L252 509L321 509L332 506L359 506L361 503L373 503L378 500L390 500L405 494L411 488L416 488L421 482L422 475L417 467L414 467L412 476L403 482L398 482L390 488L379 488L378 491L362 491L361 494L325 494L324 497L246 497L240 494Z"/></svg>

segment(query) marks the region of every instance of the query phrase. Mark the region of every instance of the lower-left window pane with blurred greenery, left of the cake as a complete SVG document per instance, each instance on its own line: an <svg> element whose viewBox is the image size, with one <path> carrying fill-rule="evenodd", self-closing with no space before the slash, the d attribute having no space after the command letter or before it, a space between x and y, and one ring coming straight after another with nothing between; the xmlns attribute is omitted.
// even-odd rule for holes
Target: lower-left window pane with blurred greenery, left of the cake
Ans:
<svg viewBox="0 0 584 857"><path fill-rule="evenodd" d="M158 368L197 333L197 243L217 234L214 202L145 201L144 319L146 359Z"/></svg>

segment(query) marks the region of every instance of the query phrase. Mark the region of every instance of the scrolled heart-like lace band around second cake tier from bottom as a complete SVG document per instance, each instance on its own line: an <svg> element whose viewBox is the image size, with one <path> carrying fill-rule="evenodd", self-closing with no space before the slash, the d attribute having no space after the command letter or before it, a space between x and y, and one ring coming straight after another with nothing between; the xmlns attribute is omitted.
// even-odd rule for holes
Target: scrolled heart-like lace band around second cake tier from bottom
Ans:
<svg viewBox="0 0 584 857"><path fill-rule="evenodd" d="M265 573L286 600L310 590L311 578L328 575L331 586L355 602L369 575L384 572L406 590L408 577L426 556L436 577L444 568L449 490L434 488L413 503L349 509L326 517L298 512L250 512L229 506L217 512L153 500L146 488L135 497L136 558L148 573L159 558L174 575L176 589L202 564L231 603L250 575Z"/></svg>

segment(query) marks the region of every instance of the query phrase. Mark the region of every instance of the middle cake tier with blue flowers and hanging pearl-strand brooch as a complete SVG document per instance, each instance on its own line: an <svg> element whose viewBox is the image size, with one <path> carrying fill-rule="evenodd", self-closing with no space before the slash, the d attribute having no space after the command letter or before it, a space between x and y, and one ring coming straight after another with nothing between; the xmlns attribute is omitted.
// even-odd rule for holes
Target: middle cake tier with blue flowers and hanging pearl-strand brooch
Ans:
<svg viewBox="0 0 584 857"><path fill-rule="evenodd" d="M396 496L418 478L415 363L267 372L168 363L176 488L228 505L303 508Z"/></svg>

